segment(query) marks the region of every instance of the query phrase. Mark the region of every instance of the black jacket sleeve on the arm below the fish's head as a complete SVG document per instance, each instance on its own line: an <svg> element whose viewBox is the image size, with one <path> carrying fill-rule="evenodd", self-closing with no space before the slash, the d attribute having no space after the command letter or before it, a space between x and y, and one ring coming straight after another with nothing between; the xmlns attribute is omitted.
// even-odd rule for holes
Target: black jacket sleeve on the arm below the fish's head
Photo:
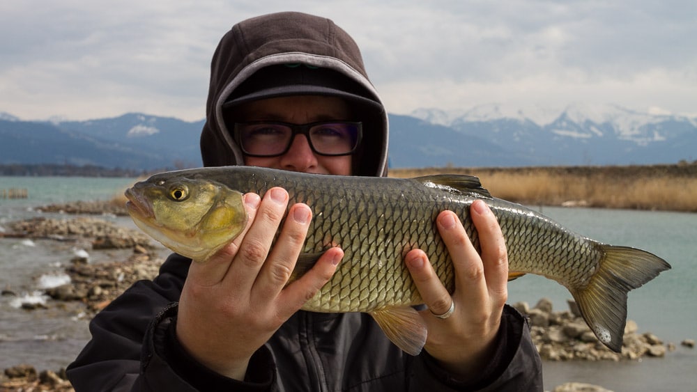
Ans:
<svg viewBox="0 0 697 392"><path fill-rule="evenodd" d="M237 382L197 363L199 367L192 367L195 361L176 343L176 301L189 262L170 256L154 281L135 283L93 318L92 338L67 370L75 391L270 390L274 377L266 363L270 354L260 352L252 358L261 365L257 368L268 371L250 374L249 382Z"/></svg>

